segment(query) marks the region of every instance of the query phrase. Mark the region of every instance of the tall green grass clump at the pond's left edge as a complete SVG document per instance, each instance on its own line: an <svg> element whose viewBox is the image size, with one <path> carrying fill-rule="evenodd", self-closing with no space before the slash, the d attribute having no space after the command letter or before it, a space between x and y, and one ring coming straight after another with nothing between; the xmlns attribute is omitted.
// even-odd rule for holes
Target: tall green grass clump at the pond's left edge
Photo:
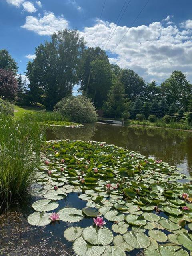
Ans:
<svg viewBox="0 0 192 256"><path fill-rule="evenodd" d="M31 115L0 115L0 209L26 195L40 164L44 131Z"/></svg>

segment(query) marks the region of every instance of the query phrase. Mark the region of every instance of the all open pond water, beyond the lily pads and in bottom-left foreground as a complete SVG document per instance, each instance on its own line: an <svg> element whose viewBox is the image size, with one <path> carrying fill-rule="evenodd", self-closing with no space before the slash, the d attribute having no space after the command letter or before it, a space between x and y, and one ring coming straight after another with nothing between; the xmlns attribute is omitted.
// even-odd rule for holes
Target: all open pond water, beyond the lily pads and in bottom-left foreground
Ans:
<svg viewBox="0 0 192 256"><path fill-rule="evenodd" d="M155 159L162 159L192 173L192 132L171 129L122 127L107 124L85 124L84 128L53 127L47 130L47 140L79 139L104 141L107 144L128 148ZM40 199L40 198L39 198ZM23 203L0 215L0 255L5 256L72 256L72 243L66 241L63 232L71 224L61 222L45 227L30 226L27 217L34 212L30 207L37 198L23 199ZM82 209L86 201L77 193L60 200L57 211L64 206ZM92 219L84 219L75 226L86 227ZM110 225L110 223L108 223ZM110 227L110 226L109 226ZM139 250L129 253L142 255ZM128 255L128 254L127 254Z"/></svg>

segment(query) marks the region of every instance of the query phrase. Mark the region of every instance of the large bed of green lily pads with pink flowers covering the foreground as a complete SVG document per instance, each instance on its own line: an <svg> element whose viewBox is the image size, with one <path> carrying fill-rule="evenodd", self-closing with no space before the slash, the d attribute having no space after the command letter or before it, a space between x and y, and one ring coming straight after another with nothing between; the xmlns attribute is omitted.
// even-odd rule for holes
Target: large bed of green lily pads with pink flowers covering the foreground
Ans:
<svg viewBox="0 0 192 256"><path fill-rule="evenodd" d="M146 256L192 255L192 184L175 167L93 141L50 141L44 156L36 195L45 199L32 205L30 224L93 218L91 226L64 231L78 256L125 256L138 249ZM56 212L57 201L71 192L86 207Z"/></svg>

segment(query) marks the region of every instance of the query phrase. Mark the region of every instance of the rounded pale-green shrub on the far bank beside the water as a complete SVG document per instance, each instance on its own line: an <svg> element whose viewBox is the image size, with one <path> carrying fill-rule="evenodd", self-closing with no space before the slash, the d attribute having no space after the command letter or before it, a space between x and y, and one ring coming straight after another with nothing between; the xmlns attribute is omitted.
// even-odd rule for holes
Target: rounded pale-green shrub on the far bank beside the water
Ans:
<svg viewBox="0 0 192 256"><path fill-rule="evenodd" d="M90 99L83 95L70 96L60 100L54 107L63 118L76 123L95 122L97 114Z"/></svg>

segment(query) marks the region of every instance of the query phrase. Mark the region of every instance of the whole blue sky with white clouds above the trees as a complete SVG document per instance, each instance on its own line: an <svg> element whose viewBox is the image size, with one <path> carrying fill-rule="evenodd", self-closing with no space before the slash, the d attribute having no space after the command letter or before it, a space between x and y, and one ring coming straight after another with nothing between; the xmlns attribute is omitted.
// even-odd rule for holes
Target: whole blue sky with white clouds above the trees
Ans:
<svg viewBox="0 0 192 256"><path fill-rule="evenodd" d="M191 0L0 0L0 49L21 74L35 48L64 28L77 29L87 46L100 46L110 63L146 82L160 84L174 70L192 82Z"/></svg>

